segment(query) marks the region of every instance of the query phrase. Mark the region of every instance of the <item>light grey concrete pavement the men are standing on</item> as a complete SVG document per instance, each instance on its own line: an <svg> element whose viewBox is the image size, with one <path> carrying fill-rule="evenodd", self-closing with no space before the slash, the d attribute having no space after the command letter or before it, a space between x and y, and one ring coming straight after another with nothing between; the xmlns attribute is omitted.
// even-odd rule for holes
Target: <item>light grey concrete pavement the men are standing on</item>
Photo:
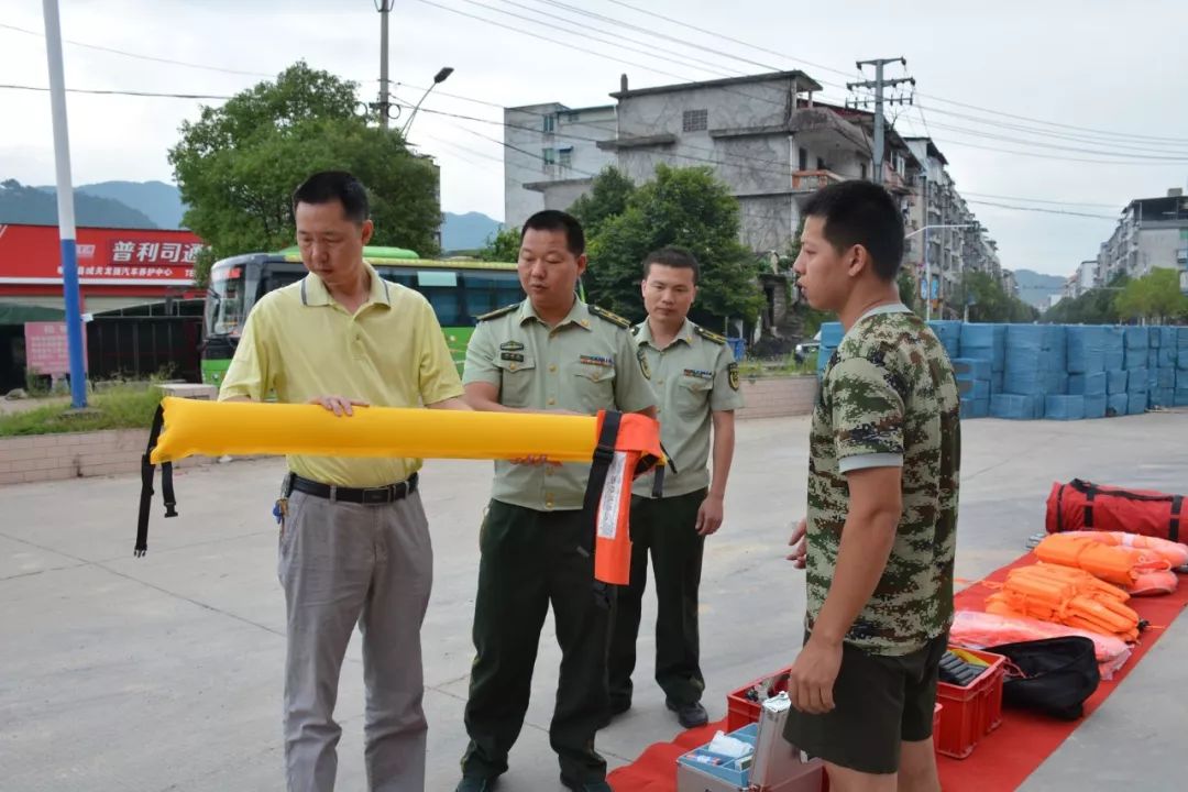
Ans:
<svg viewBox="0 0 1188 792"><path fill-rule="evenodd" d="M742 422L726 525L707 546L702 641L710 717L726 692L797 651L803 578L783 560L802 513L807 418ZM967 422L958 575L977 578L1043 528L1053 481L1188 489L1188 413L1049 423ZM283 463L177 476L181 517L154 503L132 557L133 476L0 488L0 787L19 791L279 790L284 608L270 514ZM429 781L453 790L466 745L478 526L488 463L432 461L423 494L435 543L423 629ZM600 733L612 766L680 727L651 682L655 602L639 639L634 708ZM1182 788L1188 629L1173 627L1119 690L1029 779L1029 790ZM561 788L548 746L560 653L542 636L527 723L500 788ZM358 634L343 667L339 788L362 790ZM1125 764L1125 769L1121 765Z"/></svg>

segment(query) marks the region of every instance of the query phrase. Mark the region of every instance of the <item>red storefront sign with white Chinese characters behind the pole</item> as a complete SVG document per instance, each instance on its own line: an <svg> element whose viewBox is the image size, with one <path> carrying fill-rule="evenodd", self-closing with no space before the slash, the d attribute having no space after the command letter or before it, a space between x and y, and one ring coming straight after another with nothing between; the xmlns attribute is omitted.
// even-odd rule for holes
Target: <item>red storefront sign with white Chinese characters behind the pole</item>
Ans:
<svg viewBox="0 0 1188 792"><path fill-rule="evenodd" d="M203 248L190 232L80 228L78 280L89 286L190 286ZM56 226L0 226L0 284L61 284Z"/></svg>

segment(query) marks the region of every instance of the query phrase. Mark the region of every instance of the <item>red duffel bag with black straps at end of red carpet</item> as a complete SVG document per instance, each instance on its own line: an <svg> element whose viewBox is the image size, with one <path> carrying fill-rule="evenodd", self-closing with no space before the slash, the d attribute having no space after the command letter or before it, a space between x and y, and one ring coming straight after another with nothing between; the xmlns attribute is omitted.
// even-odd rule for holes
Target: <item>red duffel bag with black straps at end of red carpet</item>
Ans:
<svg viewBox="0 0 1188 792"><path fill-rule="evenodd" d="M1055 483L1048 495L1048 533L1125 531L1182 541L1183 495L1104 487L1080 479ZM1188 534L1188 531L1184 532Z"/></svg>

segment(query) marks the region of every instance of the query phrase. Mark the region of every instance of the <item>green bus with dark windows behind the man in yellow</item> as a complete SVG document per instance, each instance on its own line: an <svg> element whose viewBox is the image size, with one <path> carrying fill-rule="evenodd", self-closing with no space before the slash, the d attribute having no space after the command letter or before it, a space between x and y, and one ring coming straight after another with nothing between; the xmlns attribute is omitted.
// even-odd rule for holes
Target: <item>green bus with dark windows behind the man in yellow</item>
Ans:
<svg viewBox="0 0 1188 792"><path fill-rule="evenodd" d="M514 261L430 260L396 247L365 247L364 260L375 267L380 278L425 296L437 313L459 372L475 317L524 299ZM296 247L235 255L214 264L202 325L203 382L222 385L252 306L273 289L296 283L305 274Z"/></svg>

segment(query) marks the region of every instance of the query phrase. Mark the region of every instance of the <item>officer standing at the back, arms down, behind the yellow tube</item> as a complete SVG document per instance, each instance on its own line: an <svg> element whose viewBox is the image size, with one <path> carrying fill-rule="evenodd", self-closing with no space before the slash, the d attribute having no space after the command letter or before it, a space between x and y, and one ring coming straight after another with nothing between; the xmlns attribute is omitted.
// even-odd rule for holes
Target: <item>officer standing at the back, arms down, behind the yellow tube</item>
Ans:
<svg viewBox="0 0 1188 792"><path fill-rule="evenodd" d="M647 585L656 577L656 682L681 726L709 718L701 705L697 588L706 537L722 524L722 500L734 455L734 411L742 406L738 363L726 338L689 321L700 267L685 251L664 248L644 259L647 318L633 329L637 354L661 399L662 439L671 455L662 498L652 475L636 481L631 500L631 584L619 590L611 639L611 712L631 707L636 636ZM710 456L713 424L714 473Z"/></svg>

